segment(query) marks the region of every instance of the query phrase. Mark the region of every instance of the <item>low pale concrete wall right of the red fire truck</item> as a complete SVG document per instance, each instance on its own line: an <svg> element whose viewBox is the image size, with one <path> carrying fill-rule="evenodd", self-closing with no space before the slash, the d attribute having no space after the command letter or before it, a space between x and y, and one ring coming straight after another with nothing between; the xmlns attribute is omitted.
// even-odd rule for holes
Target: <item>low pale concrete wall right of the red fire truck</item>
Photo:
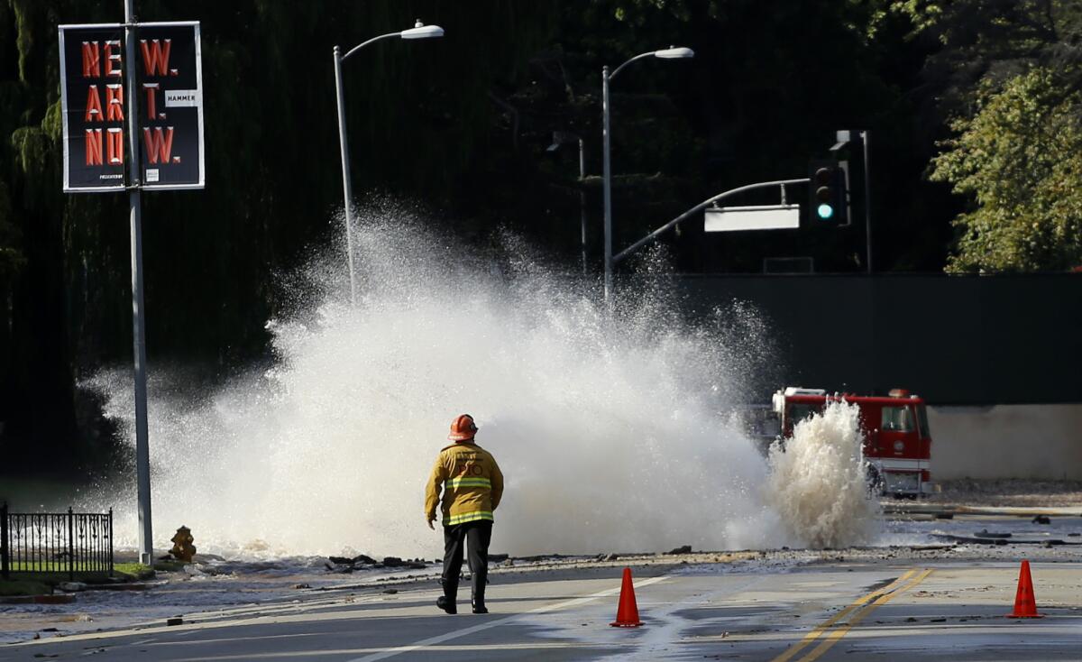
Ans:
<svg viewBox="0 0 1082 662"><path fill-rule="evenodd" d="M934 480L1082 480L1082 405L929 407Z"/></svg>

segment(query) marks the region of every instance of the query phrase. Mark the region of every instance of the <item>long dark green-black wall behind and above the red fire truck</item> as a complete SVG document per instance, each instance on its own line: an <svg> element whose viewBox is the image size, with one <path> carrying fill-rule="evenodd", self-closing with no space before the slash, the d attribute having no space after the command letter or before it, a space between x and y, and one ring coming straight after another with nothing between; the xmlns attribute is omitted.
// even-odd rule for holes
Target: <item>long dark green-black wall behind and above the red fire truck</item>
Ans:
<svg viewBox="0 0 1082 662"><path fill-rule="evenodd" d="M750 401L800 384L908 388L937 406L1082 402L1082 274L681 276L675 290L692 317L733 300L762 314L777 358L750 375Z"/></svg>

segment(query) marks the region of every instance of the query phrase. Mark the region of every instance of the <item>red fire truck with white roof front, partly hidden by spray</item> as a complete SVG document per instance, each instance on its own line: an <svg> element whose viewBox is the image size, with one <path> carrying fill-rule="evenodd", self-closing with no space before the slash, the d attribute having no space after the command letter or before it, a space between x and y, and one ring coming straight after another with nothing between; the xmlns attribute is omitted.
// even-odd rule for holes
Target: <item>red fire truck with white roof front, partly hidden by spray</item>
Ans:
<svg viewBox="0 0 1082 662"><path fill-rule="evenodd" d="M828 395L822 388L790 386L774 394L781 437L793 435L793 425L827 402L845 399L860 408L868 480L883 493L915 495L937 491L932 482L932 434L924 400L895 388L887 397Z"/></svg>

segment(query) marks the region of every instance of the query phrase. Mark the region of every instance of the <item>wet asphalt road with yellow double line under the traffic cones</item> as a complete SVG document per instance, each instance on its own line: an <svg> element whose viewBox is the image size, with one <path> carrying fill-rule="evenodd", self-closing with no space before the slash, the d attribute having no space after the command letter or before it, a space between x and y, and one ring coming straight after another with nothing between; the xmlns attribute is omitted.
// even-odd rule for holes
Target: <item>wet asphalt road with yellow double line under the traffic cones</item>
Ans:
<svg viewBox="0 0 1082 662"><path fill-rule="evenodd" d="M638 568L638 628L609 626L621 568L581 568L493 574L487 615L443 614L428 583L307 592L0 660L1082 660L1082 546L880 556ZM1042 619L1005 618L1024 556Z"/></svg>

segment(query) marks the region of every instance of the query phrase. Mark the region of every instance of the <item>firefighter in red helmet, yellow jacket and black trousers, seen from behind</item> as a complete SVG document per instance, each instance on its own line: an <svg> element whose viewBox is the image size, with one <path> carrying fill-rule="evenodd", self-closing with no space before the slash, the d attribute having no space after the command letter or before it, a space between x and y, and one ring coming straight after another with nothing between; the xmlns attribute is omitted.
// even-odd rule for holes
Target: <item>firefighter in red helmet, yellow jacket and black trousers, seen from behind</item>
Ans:
<svg viewBox="0 0 1082 662"><path fill-rule="evenodd" d="M440 580L444 595L436 600L436 606L447 613L458 613L456 596L466 546L473 575L473 612L488 613L485 608L488 543L492 540L492 512L503 495L503 474L491 453L474 442L476 434L477 425L470 414L451 422L447 439L453 443L439 451L424 490L425 519L433 530L440 487L444 491L444 575Z"/></svg>

